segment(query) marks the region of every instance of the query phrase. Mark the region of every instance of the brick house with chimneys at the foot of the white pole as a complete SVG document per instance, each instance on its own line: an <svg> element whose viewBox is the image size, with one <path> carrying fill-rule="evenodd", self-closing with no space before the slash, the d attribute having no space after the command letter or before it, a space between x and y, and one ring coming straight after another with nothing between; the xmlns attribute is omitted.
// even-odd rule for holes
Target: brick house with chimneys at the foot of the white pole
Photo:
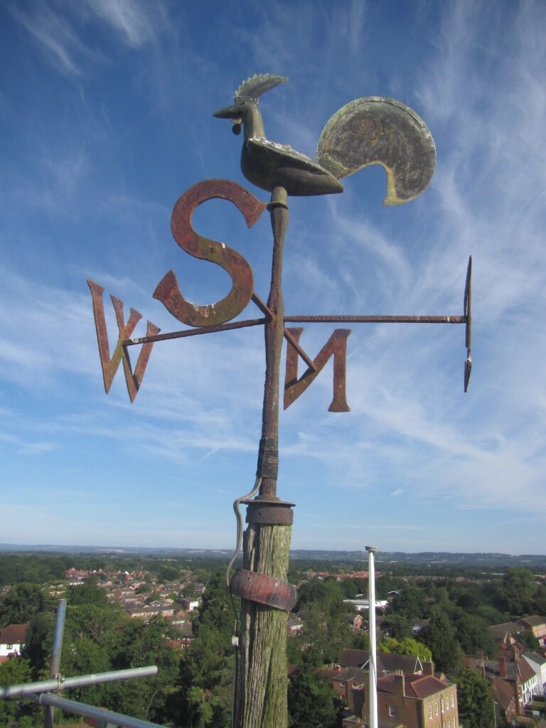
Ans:
<svg viewBox="0 0 546 728"><path fill-rule="evenodd" d="M427 663L432 668L432 663ZM368 684L352 689L353 715L344 727L369 718L366 707ZM377 679L377 713L380 728L459 728L456 684L432 674L398 671Z"/></svg>

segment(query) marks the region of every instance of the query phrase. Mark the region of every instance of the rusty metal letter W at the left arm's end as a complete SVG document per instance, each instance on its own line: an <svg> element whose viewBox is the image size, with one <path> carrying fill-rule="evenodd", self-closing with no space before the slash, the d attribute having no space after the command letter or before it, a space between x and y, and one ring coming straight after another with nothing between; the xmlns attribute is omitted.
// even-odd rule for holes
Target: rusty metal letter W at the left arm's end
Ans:
<svg viewBox="0 0 546 728"><path fill-rule="evenodd" d="M110 358L108 331L106 331L106 320L104 317L104 288L97 283L94 283L92 280L87 280L87 285L90 287L93 299L93 314L95 315L95 328L97 330L98 352L100 355L100 365L103 368L104 389L106 389L106 394L110 391L112 381L114 381L114 376L116 376L116 371L119 367L119 362L123 360L127 392L129 392L129 399L131 402L134 402L138 389L141 387L142 378L146 371L146 366L148 365L148 360L154 343L151 342L143 344L141 353L138 355L135 373L133 373L129 352L127 351L127 347L123 346L122 341L130 339L130 336L132 332L135 331L135 326L141 320L142 315L139 314L138 311L135 311L135 309L130 309L129 320L127 323L124 323L123 301L120 301L119 298L115 298L115 296L110 296L112 304L114 305L114 311L116 312L117 328L119 329L116 348L114 349L114 354ZM159 329L155 324L150 321L148 322L146 336L155 336L155 334L159 333L159 331L161 331L161 329Z"/></svg>

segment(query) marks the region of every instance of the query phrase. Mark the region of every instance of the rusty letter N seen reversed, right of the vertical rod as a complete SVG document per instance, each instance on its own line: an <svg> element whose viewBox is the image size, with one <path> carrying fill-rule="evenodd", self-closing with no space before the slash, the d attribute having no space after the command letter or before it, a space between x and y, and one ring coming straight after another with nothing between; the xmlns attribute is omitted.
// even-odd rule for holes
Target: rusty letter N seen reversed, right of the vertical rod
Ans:
<svg viewBox="0 0 546 728"><path fill-rule="evenodd" d="M289 328L296 342L299 343L303 328ZM347 369L347 337L351 333L350 328L336 328L332 336L313 360L315 370L308 368L301 378L298 379L298 352L294 347L288 346L286 349L286 373L285 373L285 409L295 402L298 397L305 392L309 384L314 378L323 371L325 363L333 355L333 400L328 407L329 412L349 412L350 408L347 404L345 395L345 373Z"/></svg>

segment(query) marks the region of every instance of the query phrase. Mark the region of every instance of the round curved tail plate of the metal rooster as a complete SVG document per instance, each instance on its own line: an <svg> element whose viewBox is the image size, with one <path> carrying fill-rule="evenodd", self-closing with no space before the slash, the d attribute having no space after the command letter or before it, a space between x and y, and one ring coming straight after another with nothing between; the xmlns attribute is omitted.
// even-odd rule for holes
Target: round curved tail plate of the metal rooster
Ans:
<svg viewBox="0 0 546 728"><path fill-rule="evenodd" d="M427 124L393 98L357 98L336 111L324 127L317 162L336 178L368 165L387 172L384 205L409 202L427 188L436 148Z"/></svg>

